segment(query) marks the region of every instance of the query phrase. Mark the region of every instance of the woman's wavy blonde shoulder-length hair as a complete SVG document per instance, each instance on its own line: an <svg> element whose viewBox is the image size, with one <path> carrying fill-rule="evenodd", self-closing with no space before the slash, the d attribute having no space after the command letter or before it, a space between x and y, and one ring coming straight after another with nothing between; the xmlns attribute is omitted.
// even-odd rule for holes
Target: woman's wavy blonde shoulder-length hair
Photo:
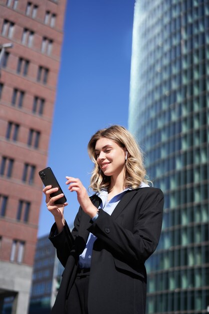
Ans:
<svg viewBox="0 0 209 314"><path fill-rule="evenodd" d="M143 153L135 138L125 127L112 125L108 128L98 130L92 135L88 143L88 153L94 163L89 188L93 191L101 191L102 189L108 190L110 187L110 177L103 174L96 160L95 146L97 140L101 137L115 141L119 146L126 147L128 151L128 158L125 163L125 188L131 187L132 189L137 189L142 182L147 183L145 179L146 171L143 166Z"/></svg>

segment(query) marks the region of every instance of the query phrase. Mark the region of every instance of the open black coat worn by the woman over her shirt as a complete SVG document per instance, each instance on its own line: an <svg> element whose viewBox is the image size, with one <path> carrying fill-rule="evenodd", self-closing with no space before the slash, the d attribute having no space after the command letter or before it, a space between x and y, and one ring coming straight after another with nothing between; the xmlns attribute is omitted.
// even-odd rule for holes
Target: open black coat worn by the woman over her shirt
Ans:
<svg viewBox="0 0 209 314"><path fill-rule="evenodd" d="M92 196L91 200L98 208L98 196ZM52 313L66 313L65 301L74 282L79 255L85 248L89 232L97 237L89 277L89 314L145 313L144 262L158 244L162 212L162 191L140 188L128 190L111 216L100 210L99 217L93 222L80 207L72 232L66 224L60 234L53 236L56 230L54 224L50 240L56 247L65 270Z"/></svg>

